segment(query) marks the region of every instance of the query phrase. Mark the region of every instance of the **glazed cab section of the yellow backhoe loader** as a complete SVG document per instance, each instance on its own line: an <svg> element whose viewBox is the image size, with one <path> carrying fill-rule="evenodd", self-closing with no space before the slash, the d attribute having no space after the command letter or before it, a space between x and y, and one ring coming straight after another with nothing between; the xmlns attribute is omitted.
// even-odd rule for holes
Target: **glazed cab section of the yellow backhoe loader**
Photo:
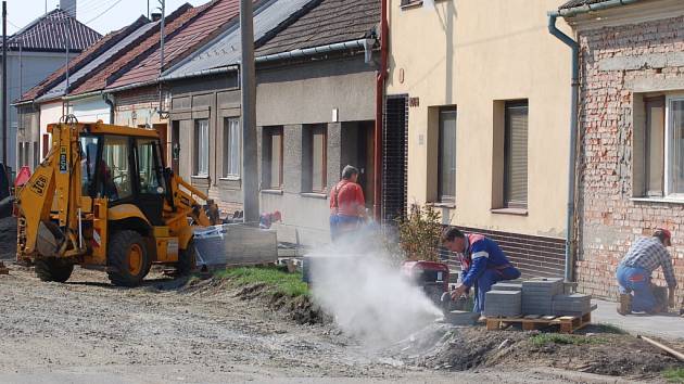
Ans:
<svg viewBox="0 0 684 384"><path fill-rule="evenodd" d="M83 195L106 197L109 206L134 204L153 226L162 226L164 179L159 138L81 135Z"/></svg>

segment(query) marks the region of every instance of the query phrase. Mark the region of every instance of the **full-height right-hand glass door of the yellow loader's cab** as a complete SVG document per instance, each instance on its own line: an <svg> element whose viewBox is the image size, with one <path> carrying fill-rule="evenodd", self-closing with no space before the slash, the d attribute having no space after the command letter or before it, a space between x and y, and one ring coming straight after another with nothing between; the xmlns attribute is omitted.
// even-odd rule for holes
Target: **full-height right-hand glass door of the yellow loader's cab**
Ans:
<svg viewBox="0 0 684 384"><path fill-rule="evenodd" d="M163 178L161 141L138 138L135 140L135 182L138 190L136 205L153 226L163 226L162 213L166 196L166 183Z"/></svg>

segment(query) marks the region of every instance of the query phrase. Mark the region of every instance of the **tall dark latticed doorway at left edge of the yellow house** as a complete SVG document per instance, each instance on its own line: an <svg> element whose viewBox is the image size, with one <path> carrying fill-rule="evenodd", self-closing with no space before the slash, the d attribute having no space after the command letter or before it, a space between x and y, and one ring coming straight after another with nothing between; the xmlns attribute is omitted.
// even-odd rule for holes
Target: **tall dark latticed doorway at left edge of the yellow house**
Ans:
<svg viewBox="0 0 684 384"><path fill-rule="evenodd" d="M382 220L406 213L408 178L408 104L406 95L389 95L382 130Z"/></svg>

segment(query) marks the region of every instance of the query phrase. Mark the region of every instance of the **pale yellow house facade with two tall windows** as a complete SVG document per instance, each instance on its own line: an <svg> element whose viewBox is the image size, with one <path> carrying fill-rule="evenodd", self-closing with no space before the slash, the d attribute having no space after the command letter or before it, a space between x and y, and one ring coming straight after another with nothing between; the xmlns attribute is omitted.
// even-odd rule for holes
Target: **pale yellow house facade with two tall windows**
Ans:
<svg viewBox="0 0 684 384"><path fill-rule="evenodd" d="M492 236L539 276L565 268L571 51L547 29L561 3L389 0L387 98L406 104L407 203Z"/></svg>

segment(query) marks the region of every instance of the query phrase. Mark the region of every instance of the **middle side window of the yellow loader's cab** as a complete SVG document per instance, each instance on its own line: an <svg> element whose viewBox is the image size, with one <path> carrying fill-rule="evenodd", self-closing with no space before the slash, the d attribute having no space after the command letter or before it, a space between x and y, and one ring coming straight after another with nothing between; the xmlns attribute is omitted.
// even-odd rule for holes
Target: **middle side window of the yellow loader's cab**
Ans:
<svg viewBox="0 0 684 384"><path fill-rule="evenodd" d="M129 155L128 138L104 137L102 162L98 169L103 181L100 184L100 195L113 202L132 196Z"/></svg>

